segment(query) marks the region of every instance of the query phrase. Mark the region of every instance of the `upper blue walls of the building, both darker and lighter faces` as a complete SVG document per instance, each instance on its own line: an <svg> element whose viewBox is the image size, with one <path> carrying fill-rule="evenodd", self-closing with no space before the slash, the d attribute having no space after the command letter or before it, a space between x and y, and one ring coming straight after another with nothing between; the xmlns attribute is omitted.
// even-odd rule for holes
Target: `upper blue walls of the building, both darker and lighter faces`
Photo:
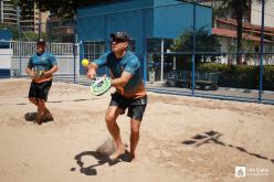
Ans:
<svg viewBox="0 0 274 182"><path fill-rule="evenodd" d="M116 0L81 7L77 10L78 41L105 41L109 34L124 30L135 40L135 52L143 57L146 39L177 38L192 29L193 4L178 0ZM197 6L197 29L211 32L212 10ZM81 57L82 58L82 57Z"/></svg>

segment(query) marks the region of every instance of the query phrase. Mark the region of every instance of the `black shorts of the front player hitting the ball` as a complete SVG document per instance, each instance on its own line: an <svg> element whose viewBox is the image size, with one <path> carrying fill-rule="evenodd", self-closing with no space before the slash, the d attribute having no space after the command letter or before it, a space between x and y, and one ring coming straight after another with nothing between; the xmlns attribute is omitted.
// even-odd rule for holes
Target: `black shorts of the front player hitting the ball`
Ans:
<svg viewBox="0 0 274 182"><path fill-rule="evenodd" d="M124 111L122 115L125 114L125 110L128 108L127 116L141 121L147 106L147 96L130 99L115 93L112 94L109 106L117 106L118 108L123 109Z"/></svg>

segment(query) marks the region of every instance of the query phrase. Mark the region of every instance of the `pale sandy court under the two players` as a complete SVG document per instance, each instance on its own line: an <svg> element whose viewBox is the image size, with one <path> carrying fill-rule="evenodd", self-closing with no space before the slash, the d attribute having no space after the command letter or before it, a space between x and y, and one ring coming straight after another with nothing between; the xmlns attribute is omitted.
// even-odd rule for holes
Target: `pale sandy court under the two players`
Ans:
<svg viewBox="0 0 274 182"><path fill-rule="evenodd" d="M25 121L30 79L0 79L0 181L274 181L274 106L148 93L137 160L112 163L96 149L109 137L109 94L54 82L54 121ZM129 144L129 121L118 118ZM235 176L245 167L246 176Z"/></svg>

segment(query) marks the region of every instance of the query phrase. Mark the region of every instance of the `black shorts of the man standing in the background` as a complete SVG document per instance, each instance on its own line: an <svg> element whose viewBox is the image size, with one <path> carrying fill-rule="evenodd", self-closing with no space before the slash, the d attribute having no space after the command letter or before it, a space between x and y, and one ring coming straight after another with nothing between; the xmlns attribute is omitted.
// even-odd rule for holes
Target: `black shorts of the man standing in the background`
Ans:
<svg viewBox="0 0 274 182"><path fill-rule="evenodd" d="M46 81L43 83L35 83L31 82L30 90L29 90L29 98L35 97L39 99L48 99L48 94L50 92L52 85L52 81Z"/></svg>

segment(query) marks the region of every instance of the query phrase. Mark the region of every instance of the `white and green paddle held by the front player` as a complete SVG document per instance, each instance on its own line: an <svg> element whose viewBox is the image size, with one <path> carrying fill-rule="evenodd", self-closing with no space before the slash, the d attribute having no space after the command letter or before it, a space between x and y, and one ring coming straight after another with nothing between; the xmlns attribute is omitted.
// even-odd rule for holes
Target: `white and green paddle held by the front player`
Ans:
<svg viewBox="0 0 274 182"><path fill-rule="evenodd" d="M109 77L96 77L92 81L91 93L95 96L105 94L110 88Z"/></svg>

